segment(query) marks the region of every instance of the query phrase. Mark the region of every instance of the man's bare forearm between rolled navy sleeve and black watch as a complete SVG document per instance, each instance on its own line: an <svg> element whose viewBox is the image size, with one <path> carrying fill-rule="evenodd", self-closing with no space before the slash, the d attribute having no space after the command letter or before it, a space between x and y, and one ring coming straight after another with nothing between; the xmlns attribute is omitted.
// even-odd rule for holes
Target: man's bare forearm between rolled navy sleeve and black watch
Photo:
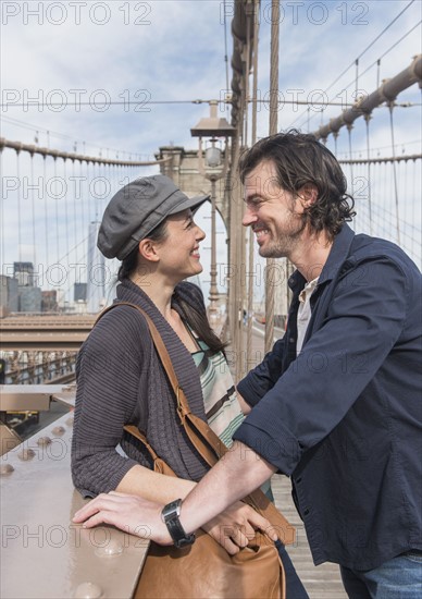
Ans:
<svg viewBox="0 0 422 599"><path fill-rule="evenodd" d="M236 441L211 468L182 505L181 523L187 534L258 489L276 470L247 445Z"/></svg>

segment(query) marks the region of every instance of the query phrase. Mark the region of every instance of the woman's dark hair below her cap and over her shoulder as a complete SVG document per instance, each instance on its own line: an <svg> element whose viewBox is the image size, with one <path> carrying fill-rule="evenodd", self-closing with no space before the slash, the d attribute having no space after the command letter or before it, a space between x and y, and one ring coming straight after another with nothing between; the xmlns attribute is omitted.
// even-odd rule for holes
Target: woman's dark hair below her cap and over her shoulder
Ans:
<svg viewBox="0 0 422 599"><path fill-rule="evenodd" d="M154 242L163 242L167 235L166 220L156 227L147 236ZM123 281L128 279L131 274L136 270L138 266L138 246L136 246L128 256L122 261L117 280ZM225 343L223 343L210 327L207 315L196 310L184 298L178 297L177 303L181 307L182 314L188 326L195 331L199 339L204 341L212 352L224 351Z"/></svg>

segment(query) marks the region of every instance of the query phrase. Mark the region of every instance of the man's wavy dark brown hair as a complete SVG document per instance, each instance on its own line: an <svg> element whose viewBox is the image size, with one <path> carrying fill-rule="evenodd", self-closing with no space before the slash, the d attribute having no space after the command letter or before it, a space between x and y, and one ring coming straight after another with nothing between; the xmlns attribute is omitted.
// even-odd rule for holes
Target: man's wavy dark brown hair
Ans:
<svg viewBox="0 0 422 599"><path fill-rule="evenodd" d="M307 184L316 187L318 198L303 213L314 232L325 230L333 239L356 215L337 159L314 135L293 129L260 139L240 157L241 181L263 161L273 162L278 185L294 195Z"/></svg>

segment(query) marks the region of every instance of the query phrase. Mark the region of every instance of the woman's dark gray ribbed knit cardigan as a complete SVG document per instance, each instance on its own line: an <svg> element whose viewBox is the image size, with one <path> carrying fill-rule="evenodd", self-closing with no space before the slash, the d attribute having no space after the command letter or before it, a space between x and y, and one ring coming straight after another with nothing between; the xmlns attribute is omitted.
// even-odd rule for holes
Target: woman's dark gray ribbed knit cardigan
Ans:
<svg viewBox="0 0 422 599"><path fill-rule="evenodd" d="M179 283L172 306L183 297L204 310L202 293ZM117 286L116 302L141 306L156 323L190 409L206 420L199 375L188 350L149 297L129 280ZM104 314L83 344L76 364L76 408L72 440L72 477L85 497L114 490L135 465L151 467L140 443L124 425L142 430L182 478L199 480L208 466L181 426L175 398L156 352L148 325L138 310L117 306ZM119 452L117 445L124 450Z"/></svg>

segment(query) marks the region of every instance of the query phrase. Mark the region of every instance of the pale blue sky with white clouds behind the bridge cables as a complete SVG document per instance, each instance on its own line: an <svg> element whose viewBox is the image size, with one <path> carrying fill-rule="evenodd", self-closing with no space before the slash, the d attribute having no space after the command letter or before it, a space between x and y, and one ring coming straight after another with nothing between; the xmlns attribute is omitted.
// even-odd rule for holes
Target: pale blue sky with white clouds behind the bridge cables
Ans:
<svg viewBox="0 0 422 599"><path fill-rule="evenodd" d="M223 98L229 88L233 1L3 0L0 7L0 114L1 136L7 139L90 156L153 159L163 145L195 148L197 143L190 137L190 127L208 115L207 101ZM421 52L421 12L419 0L282 2L278 129L296 126L315 131L330 118L337 117L357 96L372 93L384 78L407 69L412 57ZM261 2L259 17L258 96L262 101L258 137L263 137L269 130L265 100L270 89L270 1ZM305 103L289 103L294 99ZM193 103L195 100L202 100L202 103ZM343 106L326 106L328 100ZM325 103L323 110L314 103L316 101ZM411 106L394 110L396 147L400 154L420 152L418 85L402 93L398 102ZM229 120L227 107L220 103L219 109ZM374 111L370 132L371 156L392 156L387 108ZM353 157L365 156L363 121L356 123L351 135ZM328 147L334 149L332 138L328 138ZM346 132L342 132L337 140L337 150L339 157L348 158ZM86 205L72 208L69 204L65 208L58 185L61 178L70 175L71 166L63 167L59 160L52 162L44 164L40 157L32 161L29 155L24 154L16 157L10 149L2 152L4 273L10 270L8 265L17 259L34 260L44 265L45 270L63 256L69 264L80 260L82 254L78 257L78 249L75 249L79 228L76 210L86 210L94 220L109 199L109 190L102 193L100 188L92 194L86 181L82 190ZM77 166L73 168L76 169L74 179L82 174L88 179L86 173L77 171ZM420 234L421 222L418 170L420 168L409 163L396 172L401 191L400 218L406 221L400 241L413 253L418 252L418 243L409 240ZM110 188L114 188L124 176L156 172L157 167L148 167L128 173L91 170L89 174L107 178ZM352 180L352 191L359 195L368 170L359 171L357 167L355 171L345 172ZM50 215L55 210L55 223L60 224L54 225L50 216L47 222L42 212L46 197L30 191L30 183L38 176L50 181ZM397 198L392 194L392 169L387 173L380 168L371 176L373 194L378 194L380 199L383 196L384 203L380 231L393 235ZM14 188L17 180L20 190ZM64 199L72 193L67 188ZM368 206L362 213L365 210ZM376 210L381 208L377 206ZM206 229L207 216L199 215ZM62 229L64 220L71 222L70 231ZM410 229L406 229L408 225ZM221 222L219 230L220 235L225 234ZM202 255L207 271L209 250ZM224 261L226 258L220 254L219 259ZM73 280L70 276L69 289ZM207 285L207 277L204 281ZM45 288L51 286L51 282L46 280Z"/></svg>

